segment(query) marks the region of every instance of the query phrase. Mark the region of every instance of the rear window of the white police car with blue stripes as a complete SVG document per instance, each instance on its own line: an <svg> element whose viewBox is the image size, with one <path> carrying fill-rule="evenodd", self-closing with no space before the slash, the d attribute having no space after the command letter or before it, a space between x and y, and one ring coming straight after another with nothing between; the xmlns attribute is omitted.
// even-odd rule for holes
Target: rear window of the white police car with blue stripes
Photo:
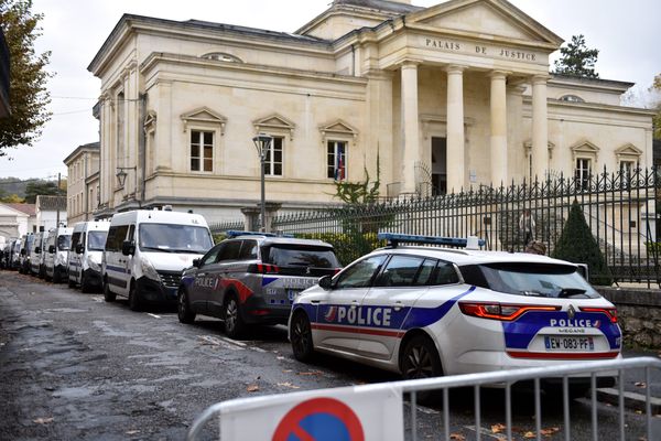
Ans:
<svg viewBox="0 0 661 441"><path fill-rule="evenodd" d="M488 263L462 267L466 283L508 294L594 299L599 293L576 267L555 263Z"/></svg>

